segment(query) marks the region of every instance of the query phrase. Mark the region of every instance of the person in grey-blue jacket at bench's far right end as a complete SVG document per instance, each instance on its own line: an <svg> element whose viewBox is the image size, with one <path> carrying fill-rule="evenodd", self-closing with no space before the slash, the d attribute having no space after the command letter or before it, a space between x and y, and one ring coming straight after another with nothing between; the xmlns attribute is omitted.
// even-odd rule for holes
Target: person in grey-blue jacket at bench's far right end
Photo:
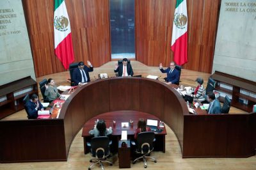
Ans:
<svg viewBox="0 0 256 170"><path fill-rule="evenodd" d="M209 109L207 110L207 112L209 114L218 114L221 113L221 106L220 106L220 102L217 98L215 98L215 95L212 91L210 91L207 95L207 98L210 102L209 105Z"/></svg>

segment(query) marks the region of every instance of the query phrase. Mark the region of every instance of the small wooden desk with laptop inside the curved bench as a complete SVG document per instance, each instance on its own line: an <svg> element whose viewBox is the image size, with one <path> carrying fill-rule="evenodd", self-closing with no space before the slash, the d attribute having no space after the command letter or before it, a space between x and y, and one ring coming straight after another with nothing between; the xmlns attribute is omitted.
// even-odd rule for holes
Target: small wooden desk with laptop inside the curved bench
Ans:
<svg viewBox="0 0 256 170"><path fill-rule="evenodd" d="M84 154L88 153L88 148L86 148L86 142L90 141L92 135L89 134L89 130L94 127L95 120L101 119L106 121L106 126L113 128L113 133L111 135L112 139L112 151L116 152L118 148L118 140L121 138L122 130L127 130L127 137L128 139L134 140L134 132L136 132L138 120L140 118L152 119L160 121L156 116L152 114L148 114L145 112L138 112L138 111L115 111L115 112L106 112L103 114L99 114L94 118L88 120L83 126L82 137L84 138ZM116 127L113 127L113 120L116 121ZM133 127L121 127L122 122L129 122L129 120L134 121ZM165 152L165 135L166 135L166 128L163 128L163 132L160 134L155 133L156 144L154 146L154 151L163 151Z"/></svg>

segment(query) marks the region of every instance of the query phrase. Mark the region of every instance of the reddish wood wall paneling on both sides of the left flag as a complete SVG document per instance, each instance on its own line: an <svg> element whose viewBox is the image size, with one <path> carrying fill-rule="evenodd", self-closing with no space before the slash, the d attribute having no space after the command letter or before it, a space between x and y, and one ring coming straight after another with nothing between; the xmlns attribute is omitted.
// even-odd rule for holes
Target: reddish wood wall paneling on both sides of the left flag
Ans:
<svg viewBox="0 0 256 170"><path fill-rule="evenodd" d="M110 61L109 1L67 0L75 61ZM54 55L54 1L22 0L36 77L65 69ZM97 47L97 48L95 48Z"/></svg>

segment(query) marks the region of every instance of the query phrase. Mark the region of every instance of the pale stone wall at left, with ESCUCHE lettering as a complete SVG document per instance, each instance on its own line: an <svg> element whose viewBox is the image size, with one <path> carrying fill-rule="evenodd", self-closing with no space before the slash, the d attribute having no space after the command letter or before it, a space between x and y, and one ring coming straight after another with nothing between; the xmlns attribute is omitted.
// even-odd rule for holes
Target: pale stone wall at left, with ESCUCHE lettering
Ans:
<svg viewBox="0 0 256 170"><path fill-rule="evenodd" d="M0 1L0 85L31 76L35 79L21 0Z"/></svg>

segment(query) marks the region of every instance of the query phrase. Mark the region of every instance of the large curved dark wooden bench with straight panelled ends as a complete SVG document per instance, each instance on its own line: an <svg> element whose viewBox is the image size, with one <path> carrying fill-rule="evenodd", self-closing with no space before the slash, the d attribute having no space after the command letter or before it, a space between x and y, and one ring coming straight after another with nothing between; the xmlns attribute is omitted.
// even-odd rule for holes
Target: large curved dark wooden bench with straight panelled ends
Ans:
<svg viewBox="0 0 256 170"><path fill-rule="evenodd" d="M112 77L77 88L62 105L58 119L1 120L0 162L67 160L84 123L113 111L147 112L163 120L177 136L184 158L255 155L256 113L189 114L186 102L168 84Z"/></svg>

